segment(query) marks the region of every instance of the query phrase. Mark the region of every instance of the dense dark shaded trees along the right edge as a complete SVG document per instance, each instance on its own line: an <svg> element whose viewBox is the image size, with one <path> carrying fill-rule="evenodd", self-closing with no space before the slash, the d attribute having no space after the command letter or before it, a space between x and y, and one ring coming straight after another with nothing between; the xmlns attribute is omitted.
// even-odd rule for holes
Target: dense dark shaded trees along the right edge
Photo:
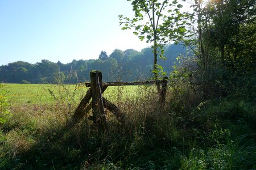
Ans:
<svg viewBox="0 0 256 170"><path fill-rule="evenodd" d="M220 91L220 86L226 94L231 82L255 74L251 69L255 65L255 1L195 0L193 7L197 27L191 47L198 58L201 87L207 98L212 88Z"/></svg>

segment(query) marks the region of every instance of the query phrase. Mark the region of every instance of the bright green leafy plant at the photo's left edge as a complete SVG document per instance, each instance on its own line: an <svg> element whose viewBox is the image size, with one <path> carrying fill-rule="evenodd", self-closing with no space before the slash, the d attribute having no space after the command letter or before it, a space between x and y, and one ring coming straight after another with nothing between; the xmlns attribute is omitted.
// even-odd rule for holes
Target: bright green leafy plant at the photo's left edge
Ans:
<svg viewBox="0 0 256 170"><path fill-rule="evenodd" d="M0 84L0 125L5 124L5 117L10 114L10 111L8 110L10 104L7 100L9 91L3 89L3 86L3 84Z"/></svg>

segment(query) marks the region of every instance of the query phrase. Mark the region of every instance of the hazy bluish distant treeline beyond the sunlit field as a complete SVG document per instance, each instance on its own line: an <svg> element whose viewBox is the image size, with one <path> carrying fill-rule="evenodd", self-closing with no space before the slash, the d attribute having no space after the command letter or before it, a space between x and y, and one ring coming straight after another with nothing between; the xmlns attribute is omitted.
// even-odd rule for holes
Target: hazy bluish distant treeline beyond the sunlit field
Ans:
<svg viewBox="0 0 256 170"><path fill-rule="evenodd" d="M164 52L166 59L160 59L159 65L168 73L176 57L185 52L186 48L182 44L168 45ZM88 81L90 70L101 70L105 81L131 81L152 76L153 58L152 49L144 48L141 52L115 49L109 56L102 51L98 59L74 59L67 64L46 59L35 64L17 61L0 66L0 82L72 84Z"/></svg>

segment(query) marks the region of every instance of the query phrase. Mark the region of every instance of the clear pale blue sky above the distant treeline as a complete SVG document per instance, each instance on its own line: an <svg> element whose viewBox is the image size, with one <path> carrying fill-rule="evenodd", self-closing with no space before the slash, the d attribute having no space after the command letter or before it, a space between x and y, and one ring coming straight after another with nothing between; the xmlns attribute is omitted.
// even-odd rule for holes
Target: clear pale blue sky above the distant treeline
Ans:
<svg viewBox="0 0 256 170"><path fill-rule="evenodd" d="M133 16L126 0L0 0L0 65L42 59L67 63L98 58L101 50L141 50L148 44L122 31L118 15Z"/></svg>

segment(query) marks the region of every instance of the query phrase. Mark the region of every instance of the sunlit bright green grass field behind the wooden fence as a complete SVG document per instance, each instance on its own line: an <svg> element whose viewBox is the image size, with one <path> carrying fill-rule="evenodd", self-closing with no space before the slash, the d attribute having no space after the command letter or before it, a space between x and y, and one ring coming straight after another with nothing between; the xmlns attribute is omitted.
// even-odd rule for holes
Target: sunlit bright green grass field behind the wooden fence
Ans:
<svg viewBox="0 0 256 170"><path fill-rule="evenodd" d="M122 97L135 97L139 86L108 87L104 97L115 99L118 90L122 89ZM80 100L86 94L88 87L81 84L60 85L60 84L3 84L0 90L9 91L11 104L49 104L55 100L69 98L74 95L75 100ZM143 92L143 90L142 90ZM121 95L121 94L119 94Z"/></svg>

